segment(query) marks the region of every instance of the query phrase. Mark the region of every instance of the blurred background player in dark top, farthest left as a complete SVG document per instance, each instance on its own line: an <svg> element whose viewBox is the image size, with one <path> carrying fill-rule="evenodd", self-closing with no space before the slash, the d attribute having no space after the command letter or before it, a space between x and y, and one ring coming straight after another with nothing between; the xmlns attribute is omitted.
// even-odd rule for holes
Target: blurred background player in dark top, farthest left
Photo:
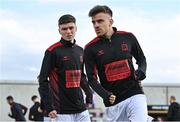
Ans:
<svg viewBox="0 0 180 122"><path fill-rule="evenodd" d="M8 96L6 99L11 109L11 114L9 113L8 116L15 119L16 121L26 121L24 116L27 112L27 107L22 104L14 102L12 96Z"/></svg>

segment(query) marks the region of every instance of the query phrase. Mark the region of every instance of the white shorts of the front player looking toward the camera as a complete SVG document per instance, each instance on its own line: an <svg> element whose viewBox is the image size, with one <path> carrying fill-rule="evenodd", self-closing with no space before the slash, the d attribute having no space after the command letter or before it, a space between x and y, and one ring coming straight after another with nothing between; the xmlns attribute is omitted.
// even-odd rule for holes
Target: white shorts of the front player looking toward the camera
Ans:
<svg viewBox="0 0 180 122"><path fill-rule="evenodd" d="M77 114L58 114L56 118L44 117L44 122L91 122L88 110Z"/></svg>

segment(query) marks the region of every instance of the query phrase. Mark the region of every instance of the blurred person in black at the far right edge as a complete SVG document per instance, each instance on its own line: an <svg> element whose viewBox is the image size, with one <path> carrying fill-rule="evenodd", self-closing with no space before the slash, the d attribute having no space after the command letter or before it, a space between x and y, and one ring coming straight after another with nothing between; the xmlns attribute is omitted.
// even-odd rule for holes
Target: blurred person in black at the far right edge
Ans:
<svg viewBox="0 0 180 122"><path fill-rule="evenodd" d="M180 105L176 102L176 97L170 97L170 106L167 114L167 121L179 121L180 120Z"/></svg>

